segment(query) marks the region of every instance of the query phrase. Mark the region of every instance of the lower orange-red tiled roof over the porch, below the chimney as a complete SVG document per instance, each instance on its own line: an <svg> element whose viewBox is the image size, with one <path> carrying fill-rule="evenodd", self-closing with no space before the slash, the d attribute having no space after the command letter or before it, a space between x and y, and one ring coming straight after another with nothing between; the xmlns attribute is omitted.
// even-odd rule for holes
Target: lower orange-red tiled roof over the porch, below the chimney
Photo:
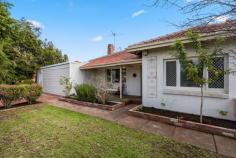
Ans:
<svg viewBox="0 0 236 158"><path fill-rule="evenodd" d="M112 65L122 65L129 63L141 62L141 58L139 56L128 53L127 51L121 51L118 53L114 53L111 55L106 55L103 57L99 57L96 59L90 60L88 63L81 66L81 69L91 69L97 67L106 67Z"/></svg>

